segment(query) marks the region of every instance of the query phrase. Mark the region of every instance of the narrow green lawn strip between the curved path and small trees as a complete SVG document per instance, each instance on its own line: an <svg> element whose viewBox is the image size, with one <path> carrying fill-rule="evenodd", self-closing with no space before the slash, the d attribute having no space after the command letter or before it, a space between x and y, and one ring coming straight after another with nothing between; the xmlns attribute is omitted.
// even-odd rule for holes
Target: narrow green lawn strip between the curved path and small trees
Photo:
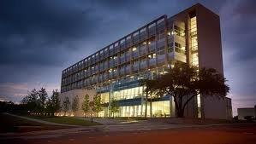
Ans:
<svg viewBox="0 0 256 144"><path fill-rule="evenodd" d="M38 118L47 122L57 123L57 124L70 124L70 125L80 125L80 126L93 126L99 125L96 122L90 122L85 119L72 118L72 117L47 117L47 116L29 116L29 118Z"/></svg>

